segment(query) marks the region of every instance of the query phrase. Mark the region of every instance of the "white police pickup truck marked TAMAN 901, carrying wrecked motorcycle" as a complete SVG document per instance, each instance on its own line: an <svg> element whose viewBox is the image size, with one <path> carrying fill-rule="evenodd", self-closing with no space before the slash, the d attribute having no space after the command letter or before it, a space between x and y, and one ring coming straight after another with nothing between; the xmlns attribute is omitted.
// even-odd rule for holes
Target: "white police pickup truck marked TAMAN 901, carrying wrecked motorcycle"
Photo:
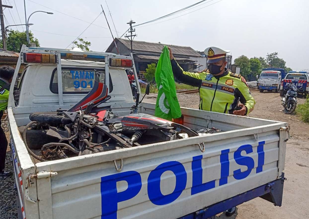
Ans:
<svg viewBox="0 0 309 219"><path fill-rule="evenodd" d="M91 72L99 69L111 96L105 104L127 115L134 102L125 69L136 71L132 54L23 46L11 91L21 63L28 65L20 97L14 100L10 92L8 106L19 218L208 218L256 197L281 206L289 138L283 122L184 107L185 126L222 132L60 160L33 159L18 129L30 121L30 113L71 107L91 90ZM88 78L72 83L75 76L67 72L76 69L88 71ZM154 115L155 104L141 103L138 111Z"/></svg>

